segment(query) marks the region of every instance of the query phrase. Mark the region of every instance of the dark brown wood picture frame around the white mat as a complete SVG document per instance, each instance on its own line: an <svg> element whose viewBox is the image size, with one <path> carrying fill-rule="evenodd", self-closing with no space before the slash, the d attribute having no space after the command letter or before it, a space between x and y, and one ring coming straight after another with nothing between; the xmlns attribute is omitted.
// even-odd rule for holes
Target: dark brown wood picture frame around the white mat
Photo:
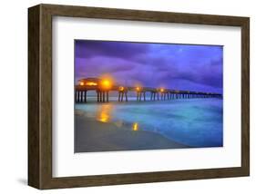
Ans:
<svg viewBox="0 0 256 194"><path fill-rule="evenodd" d="M53 16L241 27L241 167L172 170L97 176L52 177L52 18ZM69 5L28 9L28 185L57 189L100 185L212 179L250 174L250 19Z"/></svg>

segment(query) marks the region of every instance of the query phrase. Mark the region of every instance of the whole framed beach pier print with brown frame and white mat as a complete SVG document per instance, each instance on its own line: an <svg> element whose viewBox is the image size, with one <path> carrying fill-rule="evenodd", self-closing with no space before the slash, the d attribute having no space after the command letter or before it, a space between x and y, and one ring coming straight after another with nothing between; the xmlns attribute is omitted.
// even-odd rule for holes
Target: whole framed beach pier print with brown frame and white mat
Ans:
<svg viewBox="0 0 256 194"><path fill-rule="evenodd" d="M28 184L249 176L249 18L28 11Z"/></svg>

